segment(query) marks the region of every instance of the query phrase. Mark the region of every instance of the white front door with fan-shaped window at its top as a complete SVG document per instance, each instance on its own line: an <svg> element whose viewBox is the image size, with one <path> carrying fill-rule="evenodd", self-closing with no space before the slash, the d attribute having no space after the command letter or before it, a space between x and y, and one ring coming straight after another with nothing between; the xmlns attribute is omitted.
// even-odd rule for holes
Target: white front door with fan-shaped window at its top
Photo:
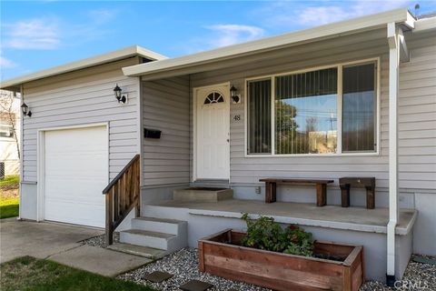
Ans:
<svg viewBox="0 0 436 291"><path fill-rule="evenodd" d="M196 89L196 178L230 177L230 88Z"/></svg>

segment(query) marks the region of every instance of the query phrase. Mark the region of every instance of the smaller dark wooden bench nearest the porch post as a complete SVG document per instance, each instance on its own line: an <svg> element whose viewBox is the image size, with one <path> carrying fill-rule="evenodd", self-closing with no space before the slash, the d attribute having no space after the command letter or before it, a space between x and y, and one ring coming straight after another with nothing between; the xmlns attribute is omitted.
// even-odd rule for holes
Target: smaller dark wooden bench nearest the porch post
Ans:
<svg viewBox="0 0 436 291"><path fill-rule="evenodd" d="M339 179L341 187L341 205L350 207L350 187L366 188L366 208L375 207L375 178L374 177L354 177L346 176Z"/></svg>

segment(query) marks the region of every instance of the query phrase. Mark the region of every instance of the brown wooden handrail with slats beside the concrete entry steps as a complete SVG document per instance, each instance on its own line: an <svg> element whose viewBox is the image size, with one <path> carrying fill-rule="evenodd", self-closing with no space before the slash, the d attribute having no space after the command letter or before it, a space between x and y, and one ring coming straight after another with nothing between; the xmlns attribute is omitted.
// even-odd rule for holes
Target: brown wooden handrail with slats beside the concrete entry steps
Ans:
<svg viewBox="0 0 436 291"><path fill-rule="evenodd" d="M136 206L140 214L140 155L135 155L103 190L106 204L106 245L114 243L114 229Z"/></svg>

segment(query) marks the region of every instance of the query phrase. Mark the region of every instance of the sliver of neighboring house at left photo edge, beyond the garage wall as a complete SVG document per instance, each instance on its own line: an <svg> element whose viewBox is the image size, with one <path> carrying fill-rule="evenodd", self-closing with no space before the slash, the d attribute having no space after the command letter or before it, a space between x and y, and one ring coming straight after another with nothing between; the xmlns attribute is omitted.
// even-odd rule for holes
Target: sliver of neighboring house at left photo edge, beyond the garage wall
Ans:
<svg viewBox="0 0 436 291"><path fill-rule="evenodd" d="M20 135L20 95L0 90L0 176L19 174Z"/></svg>

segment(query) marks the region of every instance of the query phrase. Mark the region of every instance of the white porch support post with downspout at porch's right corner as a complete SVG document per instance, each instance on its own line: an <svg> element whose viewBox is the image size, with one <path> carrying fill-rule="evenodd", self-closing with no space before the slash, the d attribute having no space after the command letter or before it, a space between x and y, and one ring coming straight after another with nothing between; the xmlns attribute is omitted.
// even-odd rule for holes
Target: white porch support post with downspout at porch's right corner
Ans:
<svg viewBox="0 0 436 291"><path fill-rule="evenodd" d="M398 222L398 79L400 37L395 23L388 24L389 43L389 223L387 226L386 283L395 282L395 228ZM402 34L401 34L402 35Z"/></svg>

